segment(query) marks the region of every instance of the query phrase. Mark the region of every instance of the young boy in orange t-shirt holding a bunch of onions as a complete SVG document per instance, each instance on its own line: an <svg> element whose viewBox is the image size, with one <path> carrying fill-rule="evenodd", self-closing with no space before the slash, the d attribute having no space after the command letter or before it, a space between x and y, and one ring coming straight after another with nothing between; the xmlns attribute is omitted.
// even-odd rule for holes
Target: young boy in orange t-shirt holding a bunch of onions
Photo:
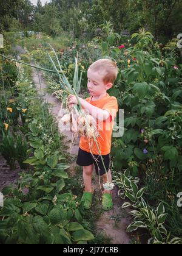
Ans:
<svg viewBox="0 0 182 256"><path fill-rule="evenodd" d="M81 106L98 122L100 136L96 138L99 151L103 157L103 162L99 155L95 141L92 139L92 152L86 136L81 136L79 151L76 163L83 166L84 193L82 200L84 208L89 209L92 205L93 188L92 172L95 166L96 174L103 177L103 182L112 182L110 172L110 148L114 118L118 112L118 103L115 97L109 96L109 90L118 74L116 63L110 59L100 59L90 65L87 71L87 88L90 97L87 99L79 98ZM78 104L76 96L69 96L69 106ZM101 128L100 128L101 127ZM90 140L90 139L89 139ZM92 153L92 154L91 154ZM94 157L93 157L94 156ZM107 171L107 174L106 174ZM102 196L103 210L110 210L113 207L112 194L110 190L104 190Z"/></svg>

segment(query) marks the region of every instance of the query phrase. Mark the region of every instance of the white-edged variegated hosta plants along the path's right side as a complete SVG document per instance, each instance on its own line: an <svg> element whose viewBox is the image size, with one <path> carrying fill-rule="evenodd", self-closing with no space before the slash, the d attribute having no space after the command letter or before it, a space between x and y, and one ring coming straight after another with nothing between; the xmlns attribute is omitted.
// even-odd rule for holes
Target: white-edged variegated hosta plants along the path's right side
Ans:
<svg viewBox="0 0 182 256"><path fill-rule="evenodd" d="M143 197L146 187L138 189L138 180L131 178L129 171L115 177L116 185L120 188L121 196L127 197L130 202L125 202L122 208L133 207L135 210L130 211L130 214L135 216L133 222L127 227L128 232L133 232L138 228L145 228L149 230L152 238L148 243L181 243L181 238L170 236L164 227L164 222L167 214L165 213L163 203L160 203L157 208L150 207Z"/></svg>

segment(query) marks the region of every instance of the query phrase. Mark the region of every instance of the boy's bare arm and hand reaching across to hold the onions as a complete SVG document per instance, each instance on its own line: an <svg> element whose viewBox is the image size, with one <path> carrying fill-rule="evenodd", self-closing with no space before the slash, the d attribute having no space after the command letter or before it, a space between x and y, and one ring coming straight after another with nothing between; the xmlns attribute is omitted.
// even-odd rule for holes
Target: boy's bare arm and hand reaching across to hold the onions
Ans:
<svg viewBox="0 0 182 256"><path fill-rule="evenodd" d="M78 98L78 99L79 99L79 102L80 102L81 106L83 108L86 108L89 111L90 115L93 116L93 118L98 119L99 121L104 121L107 118L109 118L110 113L107 110L102 110L99 107L95 107L95 106L93 106L92 104L90 104L89 102L85 101L82 98ZM71 104L78 104L76 96L74 96L74 95L72 95L69 98L69 105L71 105Z"/></svg>

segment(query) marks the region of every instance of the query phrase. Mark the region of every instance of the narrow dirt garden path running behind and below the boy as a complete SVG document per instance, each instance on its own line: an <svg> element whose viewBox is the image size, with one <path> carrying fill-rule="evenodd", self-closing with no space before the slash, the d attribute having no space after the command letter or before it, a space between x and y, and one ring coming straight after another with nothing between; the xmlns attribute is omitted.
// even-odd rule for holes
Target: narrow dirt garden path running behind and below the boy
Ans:
<svg viewBox="0 0 182 256"><path fill-rule="evenodd" d="M53 113L55 118L59 121L59 109L61 106L61 102L56 99L55 96L52 96L46 93L45 88L47 87L45 83L45 79L42 77L42 73L40 71L39 76L35 69L33 69L33 81L35 82L36 88L39 94L44 94L44 101L49 103L49 110ZM39 80L41 83L41 87L39 85ZM60 129L60 127L59 127ZM61 129L60 129L61 130ZM72 132L70 131L62 131L64 137L64 143L68 146L67 152L69 152L70 148L70 140L72 139ZM75 144L72 146L71 154L76 155L78 153L78 143L79 138L75 141ZM76 163L72 164L72 174L75 174ZM95 172L93 174L93 187L96 191L99 190L99 182L98 176L96 176ZM129 243L129 235L126 233L126 227L130 223L130 218L126 214L125 211L120 209L123 201L121 201L120 197L117 196L118 189L115 187L113 190L113 204L114 207L112 210L103 212L101 218L96 222L96 232L103 233L111 238L113 244L127 244Z"/></svg>

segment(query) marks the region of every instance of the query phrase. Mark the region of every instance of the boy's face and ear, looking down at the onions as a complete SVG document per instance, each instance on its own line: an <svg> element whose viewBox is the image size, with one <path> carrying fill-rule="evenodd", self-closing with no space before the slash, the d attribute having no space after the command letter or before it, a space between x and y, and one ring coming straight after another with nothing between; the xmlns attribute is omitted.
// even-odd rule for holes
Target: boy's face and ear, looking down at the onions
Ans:
<svg viewBox="0 0 182 256"><path fill-rule="evenodd" d="M91 95L99 96L103 93L106 93L109 88L112 87L112 83L104 84L103 77L104 73L99 71L92 71L88 69L87 71L87 88Z"/></svg>

